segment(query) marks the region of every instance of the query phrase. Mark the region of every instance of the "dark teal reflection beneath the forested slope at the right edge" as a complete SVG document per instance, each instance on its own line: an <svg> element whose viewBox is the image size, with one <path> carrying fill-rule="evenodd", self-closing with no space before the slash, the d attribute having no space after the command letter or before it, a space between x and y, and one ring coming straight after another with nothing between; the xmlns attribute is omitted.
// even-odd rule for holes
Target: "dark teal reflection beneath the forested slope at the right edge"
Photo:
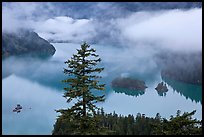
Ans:
<svg viewBox="0 0 204 137"><path fill-rule="evenodd" d="M169 86L173 88L174 91L178 92L180 95L185 96L186 99L190 98L191 101L202 104L202 86L186 84L180 81L175 81L162 77Z"/></svg>

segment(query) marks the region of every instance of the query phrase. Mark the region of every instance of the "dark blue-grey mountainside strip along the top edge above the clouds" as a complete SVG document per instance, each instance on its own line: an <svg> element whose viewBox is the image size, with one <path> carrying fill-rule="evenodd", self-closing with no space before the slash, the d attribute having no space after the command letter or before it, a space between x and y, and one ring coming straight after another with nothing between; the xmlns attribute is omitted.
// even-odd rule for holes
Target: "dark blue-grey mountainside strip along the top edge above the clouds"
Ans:
<svg viewBox="0 0 204 137"><path fill-rule="evenodd" d="M102 20L125 17L131 12L138 11L202 8L202 2L53 2L52 4L58 9L66 9L63 11L66 16Z"/></svg>

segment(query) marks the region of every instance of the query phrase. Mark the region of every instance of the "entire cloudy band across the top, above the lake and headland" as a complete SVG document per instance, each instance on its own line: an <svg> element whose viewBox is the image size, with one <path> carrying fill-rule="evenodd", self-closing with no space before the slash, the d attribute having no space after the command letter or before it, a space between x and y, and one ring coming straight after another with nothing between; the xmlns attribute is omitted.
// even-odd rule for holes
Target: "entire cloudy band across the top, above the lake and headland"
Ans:
<svg viewBox="0 0 204 137"><path fill-rule="evenodd" d="M32 29L47 40L117 41L130 47L154 45L160 49L201 50L202 8L133 11L118 5L3 3L2 30ZM80 14L86 16L79 17Z"/></svg>

